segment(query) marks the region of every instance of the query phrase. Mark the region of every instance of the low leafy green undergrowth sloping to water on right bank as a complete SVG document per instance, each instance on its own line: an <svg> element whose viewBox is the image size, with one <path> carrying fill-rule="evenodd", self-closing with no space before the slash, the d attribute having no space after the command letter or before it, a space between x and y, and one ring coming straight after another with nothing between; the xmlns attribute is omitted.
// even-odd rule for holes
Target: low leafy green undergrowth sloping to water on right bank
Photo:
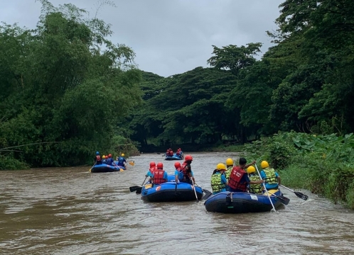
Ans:
<svg viewBox="0 0 354 255"><path fill-rule="evenodd" d="M247 157L267 160L284 185L306 188L354 209L354 136L285 132L245 145Z"/></svg>

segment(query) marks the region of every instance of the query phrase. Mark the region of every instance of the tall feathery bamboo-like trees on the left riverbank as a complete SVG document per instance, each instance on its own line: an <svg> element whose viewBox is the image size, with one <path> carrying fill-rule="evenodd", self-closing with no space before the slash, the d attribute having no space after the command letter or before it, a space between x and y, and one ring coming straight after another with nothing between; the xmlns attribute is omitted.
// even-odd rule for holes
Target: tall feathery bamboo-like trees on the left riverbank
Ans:
<svg viewBox="0 0 354 255"><path fill-rule="evenodd" d="M0 26L0 169L91 163L132 144L119 123L141 103L134 51L82 9L41 3L34 30Z"/></svg>

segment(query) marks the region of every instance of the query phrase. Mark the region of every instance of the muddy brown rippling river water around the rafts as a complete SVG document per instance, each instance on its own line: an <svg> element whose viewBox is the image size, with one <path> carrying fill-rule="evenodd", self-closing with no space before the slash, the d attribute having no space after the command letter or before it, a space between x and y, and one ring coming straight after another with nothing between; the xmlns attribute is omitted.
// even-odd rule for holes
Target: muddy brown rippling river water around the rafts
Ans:
<svg viewBox="0 0 354 255"><path fill-rule="evenodd" d="M195 181L210 190L210 174L230 153L195 153ZM354 212L328 200L304 201L289 191L276 212L224 215L203 201L146 203L141 185L149 162L132 157L124 172L90 167L0 171L0 254L353 254ZM285 184L285 183L284 183Z"/></svg>

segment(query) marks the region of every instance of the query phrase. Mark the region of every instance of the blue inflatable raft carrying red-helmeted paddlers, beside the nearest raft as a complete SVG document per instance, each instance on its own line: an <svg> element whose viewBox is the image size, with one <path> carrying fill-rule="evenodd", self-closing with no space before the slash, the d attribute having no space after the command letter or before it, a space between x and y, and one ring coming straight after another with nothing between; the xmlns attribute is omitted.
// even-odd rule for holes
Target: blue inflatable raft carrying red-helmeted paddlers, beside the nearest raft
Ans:
<svg viewBox="0 0 354 255"><path fill-rule="evenodd" d="M168 180L172 179L172 176L168 176ZM148 202L175 202L175 201L192 201L195 200L195 193L198 200L203 197L203 189L194 186L189 183L178 183L169 181L160 185L152 186L146 184L141 188L141 198Z"/></svg>

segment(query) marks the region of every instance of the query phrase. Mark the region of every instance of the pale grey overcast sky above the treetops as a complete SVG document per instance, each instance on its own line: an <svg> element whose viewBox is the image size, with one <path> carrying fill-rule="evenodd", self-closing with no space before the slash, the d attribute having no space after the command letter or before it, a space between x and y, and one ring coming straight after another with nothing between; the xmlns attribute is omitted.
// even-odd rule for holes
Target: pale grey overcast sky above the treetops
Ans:
<svg viewBox="0 0 354 255"><path fill-rule="evenodd" d="M0 21L34 28L41 11L35 0L0 0ZM98 14L112 24L112 42L136 52L139 68L163 77L195 67L208 67L212 45L262 42L272 45L266 30L276 30L279 4L284 0L112 0ZM51 0L72 3L95 13L97 0Z"/></svg>

